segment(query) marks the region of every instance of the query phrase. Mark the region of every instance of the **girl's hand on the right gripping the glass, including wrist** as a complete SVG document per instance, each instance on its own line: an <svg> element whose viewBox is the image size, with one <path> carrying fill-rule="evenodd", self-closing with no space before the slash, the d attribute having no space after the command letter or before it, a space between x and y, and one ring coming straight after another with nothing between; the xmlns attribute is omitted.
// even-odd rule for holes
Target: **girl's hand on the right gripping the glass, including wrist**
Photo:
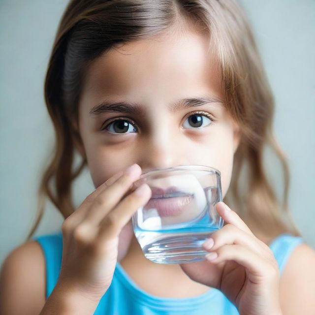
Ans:
<svg viewBox="0 0 315 315"><path fill-rule="evenodd" d="M216 210L228 224L203 243L211 254L181 268L191 280L221 290L241 315L281 314L280 273L273 252L225 203L218 202Z"/></svg>

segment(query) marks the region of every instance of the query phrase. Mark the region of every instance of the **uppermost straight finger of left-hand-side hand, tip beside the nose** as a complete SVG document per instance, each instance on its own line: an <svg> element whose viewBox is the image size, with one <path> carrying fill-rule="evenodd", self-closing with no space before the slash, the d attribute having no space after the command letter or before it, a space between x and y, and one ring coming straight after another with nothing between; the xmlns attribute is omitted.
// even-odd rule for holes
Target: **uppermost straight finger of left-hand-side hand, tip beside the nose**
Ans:
<svg viewBox="0 0 315 315"><path fill-rule="evenodd" d="M130 189L132 183L139 178L140 174L141 168L136 164L133 172L124 172L111 186L102 190L89 207L84 221L87 221L91 226L98 226L100 221L124 198L126 191Z"/></svg>

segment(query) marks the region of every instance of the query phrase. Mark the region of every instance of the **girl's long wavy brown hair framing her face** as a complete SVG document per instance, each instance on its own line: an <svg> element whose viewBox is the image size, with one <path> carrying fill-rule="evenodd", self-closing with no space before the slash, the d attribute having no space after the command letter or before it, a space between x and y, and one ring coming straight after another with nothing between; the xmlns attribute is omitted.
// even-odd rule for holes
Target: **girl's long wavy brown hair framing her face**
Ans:
<svg viewBox="0 0 315 315"><path fill-rule="evenodd" d="M71 0L61 19L45 80L45 100L56 144L38 189L34 233L48 198L67 218L74 211L71 184L87 165L73 169L78 100L92 61L116 44L148 38L178 23L203 27L221 67L226 108L241 126L230 188L224 201L257 237L289 232L300 236L288 211L289 171L272 131L274 97L244 11L236 0ZM279 158L284 171L278 200L264 168L264 149ZM53 187L50 187L52 183ZM278 183L276 183L278 185Z"/></svg>

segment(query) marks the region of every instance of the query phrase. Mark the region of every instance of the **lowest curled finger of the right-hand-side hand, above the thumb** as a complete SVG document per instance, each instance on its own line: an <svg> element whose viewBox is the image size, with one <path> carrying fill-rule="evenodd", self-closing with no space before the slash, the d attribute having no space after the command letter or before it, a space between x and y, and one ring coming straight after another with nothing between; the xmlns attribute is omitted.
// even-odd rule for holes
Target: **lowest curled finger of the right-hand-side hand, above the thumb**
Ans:
<svg viewBox="0 0 315 315"><path fill-rule="evenodd" d="M216 254L217 257L213 258ZM213 264L229 260L239 263L249 271L249 280L255 284L261 283L263 279L271 279L279 273L279 269L272 261L261 258L242 245L224 245L216 252L205 255L205 258Z"/></svg>

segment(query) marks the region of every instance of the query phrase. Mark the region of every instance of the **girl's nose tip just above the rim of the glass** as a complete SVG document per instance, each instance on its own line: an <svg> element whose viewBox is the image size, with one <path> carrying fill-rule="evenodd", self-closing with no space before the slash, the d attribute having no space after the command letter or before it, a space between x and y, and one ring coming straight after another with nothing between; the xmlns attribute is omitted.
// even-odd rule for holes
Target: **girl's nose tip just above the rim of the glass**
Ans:
<svg viewBox="0 0 315 315"><path fill-rule="evenodd" d="M189 163L186 160L185 149L177 137L171 137L169 134L159 137L148 136L138 152L138 164L143 173L156 168L187 165Z"/></svg>

